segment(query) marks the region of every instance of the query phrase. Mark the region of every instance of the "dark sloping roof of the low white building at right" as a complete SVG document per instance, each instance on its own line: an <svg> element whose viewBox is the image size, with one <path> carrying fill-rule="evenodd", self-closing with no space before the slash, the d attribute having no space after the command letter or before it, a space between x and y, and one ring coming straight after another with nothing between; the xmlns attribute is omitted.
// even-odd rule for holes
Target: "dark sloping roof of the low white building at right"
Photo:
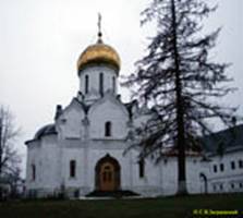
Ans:
<svg viewBox="0 0 243 218"><path fill-rule="evenodd" d="M212 155L243 149L243 124L207 135L202 142L205 152Z"/></svg>

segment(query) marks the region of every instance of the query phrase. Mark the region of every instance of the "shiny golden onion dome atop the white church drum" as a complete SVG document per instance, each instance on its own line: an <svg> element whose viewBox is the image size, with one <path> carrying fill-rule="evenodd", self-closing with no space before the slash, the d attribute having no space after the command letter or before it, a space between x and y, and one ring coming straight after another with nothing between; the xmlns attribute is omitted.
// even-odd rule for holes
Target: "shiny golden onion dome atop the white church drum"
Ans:
<svg viewBox="0 0 243 218"><path fill-rule="evenodd" d="M90 63L107 63L114 66L118 72L120 70L120 58L118 52L110 46L104 44L100 39L88 46L77 60L77 72Z"/></svg>

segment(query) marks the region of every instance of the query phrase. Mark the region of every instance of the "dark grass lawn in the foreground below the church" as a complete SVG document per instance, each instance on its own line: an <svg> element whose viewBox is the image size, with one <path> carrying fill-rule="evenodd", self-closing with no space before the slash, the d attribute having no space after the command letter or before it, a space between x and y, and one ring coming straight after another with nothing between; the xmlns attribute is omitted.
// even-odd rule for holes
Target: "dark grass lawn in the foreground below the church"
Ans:
<svg viewBox="0 0 243 218"><path fill-rule="evenodd" d="M193 217L193 209L243 210L243 194L146 199L3 202L0 203L0 218L183 218Z"/></svg>

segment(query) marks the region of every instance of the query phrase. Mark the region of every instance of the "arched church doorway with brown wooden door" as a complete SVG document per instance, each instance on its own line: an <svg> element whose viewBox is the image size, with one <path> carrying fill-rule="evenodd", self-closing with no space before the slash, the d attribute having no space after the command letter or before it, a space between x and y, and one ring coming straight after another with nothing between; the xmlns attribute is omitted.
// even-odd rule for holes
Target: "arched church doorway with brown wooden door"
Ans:
<svg viewBox="0 0 243 218"><path fill-rule="evenodd" d="M106 155L96 165L96 190L117 191L120 189L120 165L110 155Z"/></svg>

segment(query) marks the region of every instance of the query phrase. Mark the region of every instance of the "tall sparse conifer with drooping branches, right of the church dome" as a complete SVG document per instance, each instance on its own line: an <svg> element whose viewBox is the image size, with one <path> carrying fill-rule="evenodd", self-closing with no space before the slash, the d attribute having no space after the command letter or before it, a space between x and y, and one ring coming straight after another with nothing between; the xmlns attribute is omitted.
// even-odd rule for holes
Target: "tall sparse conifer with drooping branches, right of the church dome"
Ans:
<svg viewBox="0 0 243 218"><path fill-rule="evenodd" d="M216 101L232 88L224 86L229 64L209 57L220 29L202 32L203 19L215 10L203 0L153 0L142 12L142 23L155 21L157 33L125 83L137 88L135 97L153 106L156 114L136 131L139 137L133 146L142 148L142 157L155 154L158 161L165 147L173 148L180 195L187 193L186 150L197 149L198 136L211 133L209 119L229 124L235 110Z"/></svg>

